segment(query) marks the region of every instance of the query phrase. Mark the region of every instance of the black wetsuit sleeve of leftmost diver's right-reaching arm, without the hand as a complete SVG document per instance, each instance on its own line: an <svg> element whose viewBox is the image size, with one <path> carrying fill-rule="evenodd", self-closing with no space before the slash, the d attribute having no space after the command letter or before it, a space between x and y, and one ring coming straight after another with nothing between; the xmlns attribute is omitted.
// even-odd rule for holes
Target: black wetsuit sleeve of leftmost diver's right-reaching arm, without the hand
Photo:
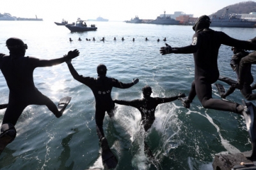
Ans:
<svg viewBox="0 0 256 170"><path fill-rule="evenodd" d="M56 58L56 59L38 59L38 58L31 58L31 61L33 62L33 65L35 67L42 67L42 66L54 66L59 65L65 61L67 61L67 58Z"/></svg>

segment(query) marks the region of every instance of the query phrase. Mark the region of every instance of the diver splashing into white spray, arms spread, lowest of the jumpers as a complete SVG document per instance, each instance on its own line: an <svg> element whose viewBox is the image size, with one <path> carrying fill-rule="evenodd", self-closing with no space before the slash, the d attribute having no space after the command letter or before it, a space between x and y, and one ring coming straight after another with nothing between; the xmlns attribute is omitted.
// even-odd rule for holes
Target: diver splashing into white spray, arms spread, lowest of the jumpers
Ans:
<svg viewBox="0 0 256 170"><path fill-rule="evenodd" d="M131 101L113 100L115 104L130 105L138 109L141 113L141 125L143 125L145 132L148 131L148 129L152 126L152 124L156 119L155 111L156 111L157 105L164 104L167 102L172 102L174 100L177 100L178 98L185 97L184 93L180 93L175 97L166 97L166 98L150 97L151 93L152 93L152 88L150 88L150 86L144 86L142 88L143 98L141 99L136 99ZM152 157L152 153L149 150L148 145L145 143L145 141L144 141L144 144L145 144L144 151L147 153L148 156Z"/></svg>

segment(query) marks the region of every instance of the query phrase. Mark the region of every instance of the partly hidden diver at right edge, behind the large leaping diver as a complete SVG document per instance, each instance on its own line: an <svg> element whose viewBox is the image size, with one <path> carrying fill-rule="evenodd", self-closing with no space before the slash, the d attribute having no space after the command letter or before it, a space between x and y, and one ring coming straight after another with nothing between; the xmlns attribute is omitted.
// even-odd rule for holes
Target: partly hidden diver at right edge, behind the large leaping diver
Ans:
<svg viewBox="0 0 256 170"><path fill-rule="evenodd" d="M232 70L236 72L237 80L238 80L239 79L239 63L241 59L243 59L245 56L248 56L250 52L246 52L243 49L237 49L236 47L232 47L232 51L234 52L234 56L232 56L232 59L230 61L230 66ZM251 84L253 83L251 68L252 68L252 63L248 63L243 73L243 79L244 79L243 89L240 89L240 92L242 93L243 97L246 98L246 100L256 99L256 93L252 93L252 90L256 89L256 84L251 86ZM228 77L223 77L223 79L220 79L220 81L224 81L228 83L228 82L232 82L233 80ZM236 89L235 86L230 86L227 92L221 95L221 98L226 98L228 95L232 94L235 91L235 89Z"/></svg>

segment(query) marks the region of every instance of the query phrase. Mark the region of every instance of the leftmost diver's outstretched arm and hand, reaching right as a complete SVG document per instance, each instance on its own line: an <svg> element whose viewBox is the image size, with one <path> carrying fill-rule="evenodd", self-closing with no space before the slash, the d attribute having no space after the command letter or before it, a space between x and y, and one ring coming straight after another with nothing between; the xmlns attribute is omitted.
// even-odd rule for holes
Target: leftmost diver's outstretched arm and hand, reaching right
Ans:
<svg viewBox="0 0 256 170"><path fill-rule="evenodd" d="M79 56L79 50L70 50L67 55L63 58L56 58L56 59L39 59L37 62L37 66L54 66L59 65L69 59L73 59Z"/></svg>

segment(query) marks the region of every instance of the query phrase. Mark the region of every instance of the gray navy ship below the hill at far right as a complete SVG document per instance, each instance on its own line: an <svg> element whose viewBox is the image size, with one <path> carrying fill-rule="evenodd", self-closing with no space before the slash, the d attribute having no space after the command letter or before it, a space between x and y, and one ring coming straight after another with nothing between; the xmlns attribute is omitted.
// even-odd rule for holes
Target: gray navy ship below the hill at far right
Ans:
<svg viewBox="0 0 256 170"><path fill-rule="evenodd" d="M228 15L228 8L221 17L211 17L210 27L256 27L255 21L241 19L237 14Z"/></svg>

